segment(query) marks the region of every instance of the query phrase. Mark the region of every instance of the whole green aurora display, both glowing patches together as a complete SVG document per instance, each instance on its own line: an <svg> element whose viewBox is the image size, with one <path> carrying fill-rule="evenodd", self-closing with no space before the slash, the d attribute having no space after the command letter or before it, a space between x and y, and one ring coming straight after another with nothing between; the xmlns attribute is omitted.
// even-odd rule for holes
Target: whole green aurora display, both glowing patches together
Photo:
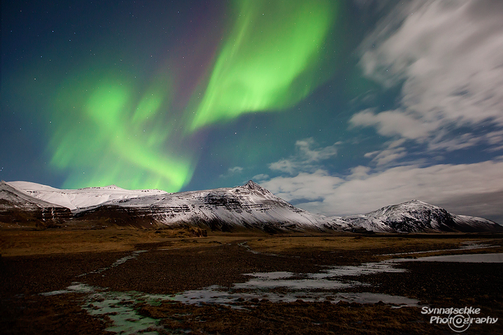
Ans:
<svg viewBox="0 0 503 335"><path fill-rule="evenodd" d="M203 98L194 103L194 91L194 107L183 117L173 110L176 83L168 74L143 93L118 73L76 77L61 89L55 110L63 121L49 151L52 166L68 172L64 187L180 191L197 164L184 141L200 128L247 112L284 110L321 84L326 69L319 59L337 6L323 0L269 2L235 1L233 25ZM183 134L175 132L179 128Z"/></svg>

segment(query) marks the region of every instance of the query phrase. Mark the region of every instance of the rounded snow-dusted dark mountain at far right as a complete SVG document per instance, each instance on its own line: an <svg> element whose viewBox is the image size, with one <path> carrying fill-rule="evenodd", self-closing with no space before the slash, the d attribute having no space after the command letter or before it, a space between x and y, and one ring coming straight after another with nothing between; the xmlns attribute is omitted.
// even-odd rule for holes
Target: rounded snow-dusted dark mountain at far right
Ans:
<svg viewBox="0 0 503 335"><path fill-rule="evenodd" d="M494 232L497 223L449 213L419 200L393 204L363 215L344 216L343 221L374 232Z"/></svg>

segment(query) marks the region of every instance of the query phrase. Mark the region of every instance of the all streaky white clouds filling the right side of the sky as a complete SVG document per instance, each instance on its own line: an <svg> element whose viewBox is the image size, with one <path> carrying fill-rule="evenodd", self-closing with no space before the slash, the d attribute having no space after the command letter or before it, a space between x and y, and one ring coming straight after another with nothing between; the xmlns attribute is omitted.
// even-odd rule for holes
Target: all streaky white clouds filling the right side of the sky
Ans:
<svg viewBox="0 0 503 335"><path fill-rule="evenodd" d="M384 90L400 88L400 94L393 109L374 106L353 114L349 130L374 128L389 140L364 155L369 166L346 174L313 164L299 151L270 164L284 174L261 184L329 216L416 198L503 223L501 156L442 163L456 150L503 149L503 1L398 3L358 52L363 75Z"/></svg>

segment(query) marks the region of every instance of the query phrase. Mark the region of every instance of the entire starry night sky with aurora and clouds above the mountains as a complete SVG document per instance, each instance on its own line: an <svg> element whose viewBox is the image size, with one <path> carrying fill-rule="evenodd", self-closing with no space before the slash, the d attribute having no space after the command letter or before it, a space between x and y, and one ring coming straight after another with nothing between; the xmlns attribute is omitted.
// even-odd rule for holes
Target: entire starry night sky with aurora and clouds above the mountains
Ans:
<svg viewBox="0 0 503 335"><path fill-rule="evenodd" d="M503 1L1 1L0 179L253 179L503 223Z"/></svg>

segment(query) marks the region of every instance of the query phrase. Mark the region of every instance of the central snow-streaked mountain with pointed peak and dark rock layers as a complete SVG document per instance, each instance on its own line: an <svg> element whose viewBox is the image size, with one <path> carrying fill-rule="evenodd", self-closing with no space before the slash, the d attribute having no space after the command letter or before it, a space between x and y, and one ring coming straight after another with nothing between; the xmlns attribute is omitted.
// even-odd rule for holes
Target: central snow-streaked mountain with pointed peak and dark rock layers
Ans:
<svg viewBox="0 0 503 335"><path fill-rule="evenodd" d="M136 225L142 226L200 225L212 230L258 228L277 232L349 228L343 221L293 207L254 181L233 188L110 200L80 210L76 215L87 219L108 216L116 223L128 217L136 218Z"/></svg>

